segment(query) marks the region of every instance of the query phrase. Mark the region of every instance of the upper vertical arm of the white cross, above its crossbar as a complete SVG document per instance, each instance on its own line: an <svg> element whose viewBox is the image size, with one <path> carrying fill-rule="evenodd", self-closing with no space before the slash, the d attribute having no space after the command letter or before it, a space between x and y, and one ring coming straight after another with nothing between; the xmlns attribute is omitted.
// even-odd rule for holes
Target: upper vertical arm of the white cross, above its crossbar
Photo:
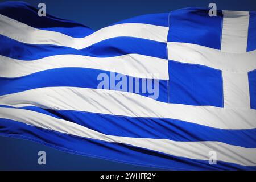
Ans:
<svg viewBox="0 0 256 182"><path fill-rule="evenodd" d="M247 49L248 11L222 11L221 52L244 53Z"/></svg>

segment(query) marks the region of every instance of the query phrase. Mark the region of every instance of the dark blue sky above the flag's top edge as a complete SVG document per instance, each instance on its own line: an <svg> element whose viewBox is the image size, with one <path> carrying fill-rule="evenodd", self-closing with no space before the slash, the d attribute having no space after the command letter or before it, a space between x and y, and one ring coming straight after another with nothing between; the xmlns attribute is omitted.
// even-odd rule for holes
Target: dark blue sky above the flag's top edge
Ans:
<svg viewBox="0 0 256 182"><path fill-rule="evenodd" d="M216 3L219 10L256 11L255 0L25 0L25 2L35 7L38 3L44 2L48 14L75 20L94 30L143 14L164 13L189 6L208 8L210 2Z"/></svg>

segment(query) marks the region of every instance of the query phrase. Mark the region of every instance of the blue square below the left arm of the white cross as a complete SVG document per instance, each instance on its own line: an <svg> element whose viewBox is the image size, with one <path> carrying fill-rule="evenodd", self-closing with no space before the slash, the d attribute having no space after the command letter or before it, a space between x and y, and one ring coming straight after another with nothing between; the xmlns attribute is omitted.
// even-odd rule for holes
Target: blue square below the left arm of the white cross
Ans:
<svg viewBox="0 0 256 182"><path fill-rule="evenodd" d="M171 103L223 107L221 71L169 60Z"/></svg>

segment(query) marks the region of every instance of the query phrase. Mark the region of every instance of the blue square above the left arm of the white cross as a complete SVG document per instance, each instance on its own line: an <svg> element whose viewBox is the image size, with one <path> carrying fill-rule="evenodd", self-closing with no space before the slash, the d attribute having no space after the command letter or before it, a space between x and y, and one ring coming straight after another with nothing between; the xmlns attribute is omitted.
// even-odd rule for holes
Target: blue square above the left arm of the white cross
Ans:
<svg viewBox="0 0 256 182"><path fill-rule="evenodd" d="M222 12L217 11L216 17L210 17L208 11L196 7L172 11L168 42L192 43L220 49Z"/></svg>

